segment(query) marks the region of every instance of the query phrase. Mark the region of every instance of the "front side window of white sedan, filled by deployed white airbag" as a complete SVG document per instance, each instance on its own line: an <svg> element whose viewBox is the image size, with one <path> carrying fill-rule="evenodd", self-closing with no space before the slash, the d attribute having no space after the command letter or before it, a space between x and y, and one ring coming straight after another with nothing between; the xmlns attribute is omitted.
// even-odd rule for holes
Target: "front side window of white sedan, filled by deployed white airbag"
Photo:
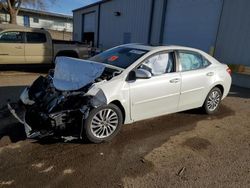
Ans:
<svg viewBox="0 0 250 188"><path fill-rule="evenodd" d="M161 53L147 59L140 68L148 70L153 76L174 72L175 62L173 53Z"/></svg>

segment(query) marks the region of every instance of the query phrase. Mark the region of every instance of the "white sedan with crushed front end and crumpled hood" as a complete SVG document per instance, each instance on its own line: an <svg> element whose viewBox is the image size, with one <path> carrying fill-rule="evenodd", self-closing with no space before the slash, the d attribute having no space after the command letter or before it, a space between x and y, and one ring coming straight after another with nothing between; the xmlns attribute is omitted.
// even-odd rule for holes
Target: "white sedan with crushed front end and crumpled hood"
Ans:
<svg viewBox="0 0 250 188"><path fill-rule="evenodd" d="M194 108L214 114L230 73L207 53L180 46L128 44L89 60L59 57L54 72L22 93L26 110L18 119L28 135L75 133L100 143L122 124Z"/></svg>

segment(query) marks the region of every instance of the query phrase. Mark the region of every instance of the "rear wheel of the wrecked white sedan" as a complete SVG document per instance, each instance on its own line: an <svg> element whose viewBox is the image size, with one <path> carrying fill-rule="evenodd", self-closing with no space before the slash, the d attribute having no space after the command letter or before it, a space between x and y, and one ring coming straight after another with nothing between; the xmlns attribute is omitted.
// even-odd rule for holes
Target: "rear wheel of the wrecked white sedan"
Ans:
<svg viewBox="0 0 250 188"><path fill-rule="evenodd" d="M220 106L222 98L222 92L219 88L213 88L207 95L207 98L202 106L206 114L215 114Z"/></svg>

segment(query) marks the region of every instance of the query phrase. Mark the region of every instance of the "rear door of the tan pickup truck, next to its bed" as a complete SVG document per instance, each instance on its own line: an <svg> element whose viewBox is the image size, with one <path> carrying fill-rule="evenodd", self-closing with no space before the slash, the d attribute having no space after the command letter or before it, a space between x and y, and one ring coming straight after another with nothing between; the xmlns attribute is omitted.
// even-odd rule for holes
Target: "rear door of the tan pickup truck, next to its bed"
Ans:
<svg viewBox="0 0 250 188"><path fill-rule="evenodd" d="M29 64L52 62L52 44L47 41L45 33L26 33L25 59Z"/></svg>

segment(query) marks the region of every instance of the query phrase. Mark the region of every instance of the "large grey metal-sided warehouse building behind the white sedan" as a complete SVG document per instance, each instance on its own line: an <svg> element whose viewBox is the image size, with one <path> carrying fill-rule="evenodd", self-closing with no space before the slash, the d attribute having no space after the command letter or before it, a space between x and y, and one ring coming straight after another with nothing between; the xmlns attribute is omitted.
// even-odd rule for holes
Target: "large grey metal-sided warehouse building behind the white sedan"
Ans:
<svg viewBox="0 0 250 188"><path fill-rule="evenodd" d="M249 0L103 0L73 10L73 39L177 44L250 66Z"/></svg>

